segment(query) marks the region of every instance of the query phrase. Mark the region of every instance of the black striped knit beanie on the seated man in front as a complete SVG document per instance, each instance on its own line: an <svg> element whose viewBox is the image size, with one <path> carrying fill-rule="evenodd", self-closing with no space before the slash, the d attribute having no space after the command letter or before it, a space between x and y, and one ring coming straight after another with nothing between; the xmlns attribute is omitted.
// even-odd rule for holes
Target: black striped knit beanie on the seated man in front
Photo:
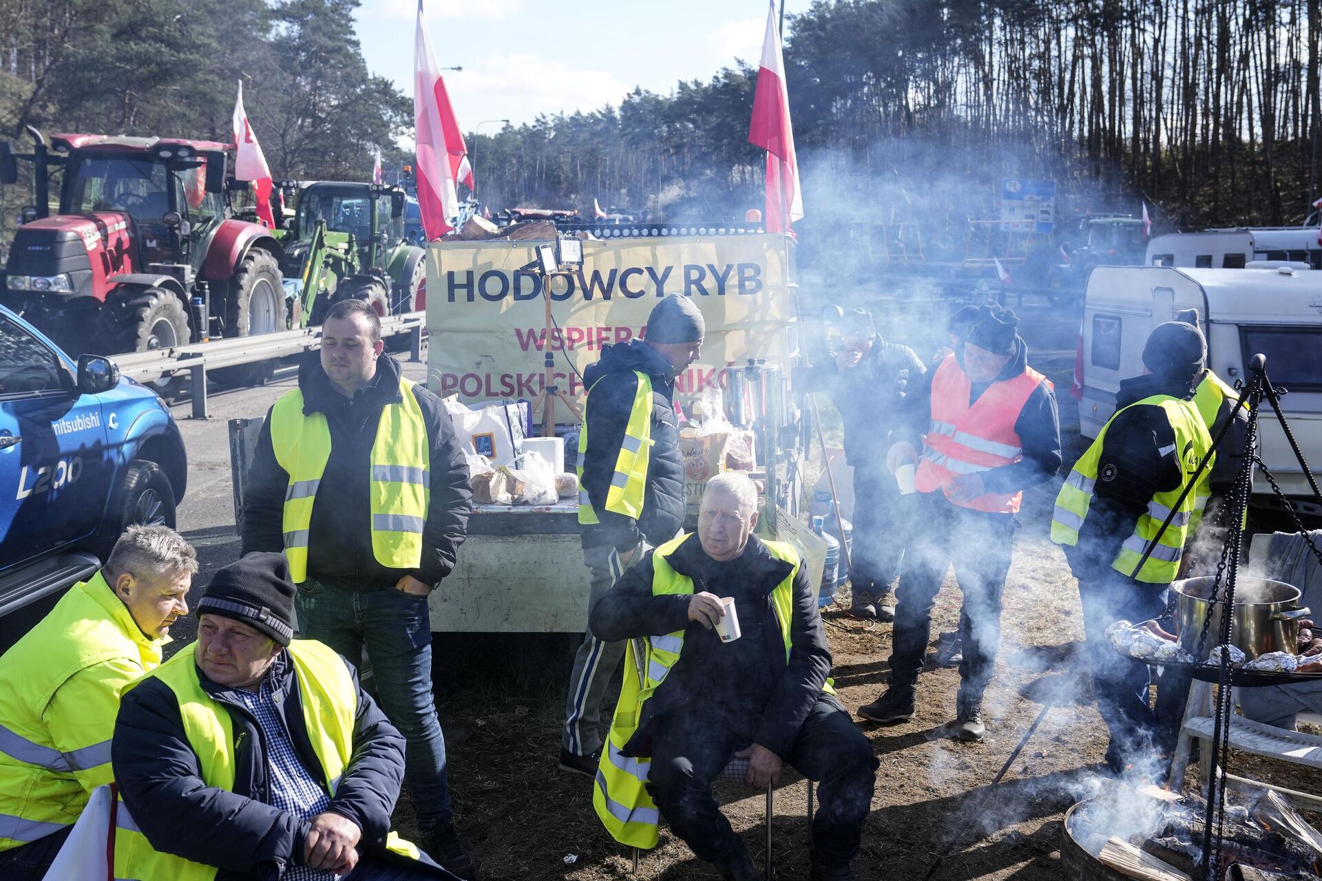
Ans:
<svg viewBox="0 0 1322 881"><path fill-rule="evenodd" d="M242 621L287 646L293 638L293 592L283 553L249 553L212 576L197 614Z"/></svg>

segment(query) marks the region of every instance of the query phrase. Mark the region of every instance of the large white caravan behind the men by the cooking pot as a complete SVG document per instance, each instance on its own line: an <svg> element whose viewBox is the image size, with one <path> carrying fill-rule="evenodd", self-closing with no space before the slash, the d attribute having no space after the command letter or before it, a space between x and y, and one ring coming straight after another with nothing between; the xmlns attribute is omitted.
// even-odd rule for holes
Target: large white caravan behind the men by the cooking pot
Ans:
<svg viewBox="0 0 1322 881"><path fill-rule="evenodd" d="M1147 334L1185 309L1198 309L1207 366L1233 384L1249 359L1266 355L1266 375L1288 390L1281 405L1309 469L1322 470L1322 272L1097 267L1088 277L1083 320L1079 428L1095 439L1116 411L1120 380L1144 372ZM1322 515L1270 404L1263 403L1261 456L1301 510ZM1259 476L1255 499L1272 489Z"/></svg>

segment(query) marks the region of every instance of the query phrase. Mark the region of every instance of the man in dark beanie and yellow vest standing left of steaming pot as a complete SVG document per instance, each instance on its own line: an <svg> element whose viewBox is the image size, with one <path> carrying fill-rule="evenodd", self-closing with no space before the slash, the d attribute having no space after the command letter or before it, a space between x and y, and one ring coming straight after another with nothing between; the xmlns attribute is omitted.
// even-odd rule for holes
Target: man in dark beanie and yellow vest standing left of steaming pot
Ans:
<svg viewBox="0 0 1322 881"><path fill-rule="evenodd" d="M1116 771L1174 746L1161 736L1149 704L1147 664L1117 654L1105 630L1116 621L1162 616L1166 588L1179 577L1196 499L1210 486L1204 470L1190 487L1211 449L1192 400L1206 355L1194 326L1169 321L1153 330L1144 347L1145 374L1120 383L1116 415L1075 462L1051 516L1051 540L1064 546L1079 580L1093 693L1110 729L1107 763ZM1167 697L1179 687L1163 680L1159 691Z"/></svg>

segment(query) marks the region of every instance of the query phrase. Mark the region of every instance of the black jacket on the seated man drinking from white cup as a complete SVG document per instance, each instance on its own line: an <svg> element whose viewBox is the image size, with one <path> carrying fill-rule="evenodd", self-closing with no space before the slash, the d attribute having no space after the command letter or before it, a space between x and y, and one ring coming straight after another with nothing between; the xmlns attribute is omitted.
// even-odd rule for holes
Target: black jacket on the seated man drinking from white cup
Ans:
<svg viewBox="0 0 1322 881"><path fill-rule="evenodd" d="M743 555L724 564L706 555L697 535L687 536L666 557L676 572L694 580L695 593L734 596L744 631L760 627L763 650L756 656L739 655L744 668L732 670L727 660L731 650L742 649L743 639L723 643L715 630L689 621L691 594L652 596L653 560L654 553L648 553L625 571L588 616L588 627L603 642L683 630L680 659L644 704L639 730L624 752L650 756L654 724L665 717L669 725L676 715L693 712L695 704L706 707L693 712L694 720L710 719L706 711L711 707L739 705L752 715L740 725L752 736L752 742L785 758L813 704L824 697L822 687L830 675L830 649L817 610L817 590L804 568L800 567L793 581L787 663L769 594L789 575L788 563L773 557L758 536L750 536ZM724 692L720 691L723 683L728 686ZM751 687L750 683L764 684Z"/></svg>

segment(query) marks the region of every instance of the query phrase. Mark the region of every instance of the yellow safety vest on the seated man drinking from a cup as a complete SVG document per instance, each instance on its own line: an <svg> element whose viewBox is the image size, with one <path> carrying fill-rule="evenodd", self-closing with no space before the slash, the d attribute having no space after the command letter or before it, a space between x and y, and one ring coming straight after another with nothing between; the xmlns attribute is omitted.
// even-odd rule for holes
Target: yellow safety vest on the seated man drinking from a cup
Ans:
<svg viewBox="0 0 1322 881"><path fill-rule="evenodd" d="M656 549L652 555L652 594L693 593L693 579L676 572L666 557L687 539L681 534ZM793 565L793 569L771 592L771 604L780 625L780 637L785 642L785 660L792 649L789 637L791 614L795 604L795 575L800 560L795 548L783 542L763 542L771 555ZM636 848L654 848L657 844L657 823L660 814L646 791L650 758L624 756L620 750L629 742L642 717L642 704L656 693L665 682L674 663L680 660L683 649L683 630L676 630L640 641L644 645L642 663L639 664L635 641L628 642L624 658L624 679L620 686L620 701L615 705L611 730L605 736L605 748L596 770L596 786L592 789L592 807L605 829L620 844ZM646 682L640 686L639 668L645 671ZM832 680L824 688L834 695Z"/></svg>

